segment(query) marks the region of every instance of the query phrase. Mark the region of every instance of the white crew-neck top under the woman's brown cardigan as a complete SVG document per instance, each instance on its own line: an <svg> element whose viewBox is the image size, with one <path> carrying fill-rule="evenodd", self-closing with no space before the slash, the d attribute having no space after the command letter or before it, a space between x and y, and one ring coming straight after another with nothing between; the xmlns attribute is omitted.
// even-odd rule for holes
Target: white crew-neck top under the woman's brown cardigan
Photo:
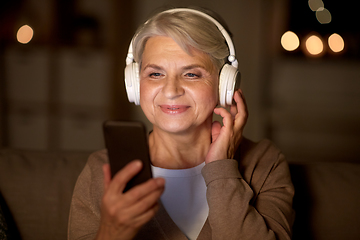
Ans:
<svg viewBox="0 0 360 240"><path fill-rule="evenodd" d="M209 214L206 200L206 184L202 163L188 169L164 169L152 167L154 177L165 179L165 191L161 202L171 219L188 237L196 239Z"/></svg>

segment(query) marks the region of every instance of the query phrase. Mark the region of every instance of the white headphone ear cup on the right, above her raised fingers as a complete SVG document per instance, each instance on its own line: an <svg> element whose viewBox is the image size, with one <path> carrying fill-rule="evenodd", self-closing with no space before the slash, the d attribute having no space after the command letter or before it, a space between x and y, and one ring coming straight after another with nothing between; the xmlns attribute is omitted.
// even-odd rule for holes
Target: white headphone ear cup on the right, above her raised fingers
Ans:
<svg viewBox="0 0 360 240"><path fill-rule="evenodd" d="M240 86L240 73L236 67L225 64L219 77L219 101L221 106L226 107L232 104L235 86Z"/></svg>

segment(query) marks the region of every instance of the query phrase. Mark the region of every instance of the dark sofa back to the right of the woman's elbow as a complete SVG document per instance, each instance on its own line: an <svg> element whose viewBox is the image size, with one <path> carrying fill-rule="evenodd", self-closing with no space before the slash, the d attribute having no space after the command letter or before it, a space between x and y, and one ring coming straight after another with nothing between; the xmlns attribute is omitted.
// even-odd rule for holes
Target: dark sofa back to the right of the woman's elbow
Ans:
<svg viewBox="0 0 360 240"><path fill-rule="evenodd" d="M360 164L290 164L295 186L293 239L359 239Z"/></svg>

